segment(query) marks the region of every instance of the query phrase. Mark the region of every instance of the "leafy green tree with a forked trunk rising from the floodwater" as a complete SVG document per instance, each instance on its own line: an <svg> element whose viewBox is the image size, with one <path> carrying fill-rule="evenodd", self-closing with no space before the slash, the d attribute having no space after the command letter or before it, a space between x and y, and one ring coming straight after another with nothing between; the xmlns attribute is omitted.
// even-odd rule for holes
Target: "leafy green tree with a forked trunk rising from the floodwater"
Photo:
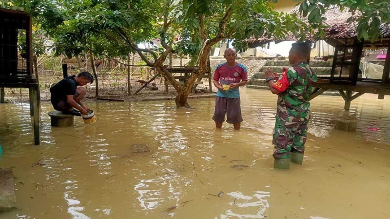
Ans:
<svg viewBox="0 0 390 219"><path fill-rule="evenodd" d="M57 53L73 56L86 49L123 57L138 53L177 90L178 107L190 107L191 87L211 71L209 53L216 43L234 39L236 48L245 49L243 40L252 35L283 38L289 31L304 36L309 30L296 15L273 11L268 0L32 0L28 4L56 42ZM161 51L138 48L152 39L160 39ZM188 54L197 64L184 86L163 65L172 52Z"/></svg>

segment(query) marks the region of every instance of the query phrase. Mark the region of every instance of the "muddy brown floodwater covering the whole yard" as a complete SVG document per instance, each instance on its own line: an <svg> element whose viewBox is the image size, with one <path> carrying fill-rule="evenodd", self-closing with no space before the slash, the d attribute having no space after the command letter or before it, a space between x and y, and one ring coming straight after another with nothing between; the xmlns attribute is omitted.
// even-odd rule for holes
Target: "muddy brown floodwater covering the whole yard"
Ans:
<svg viewBox="0 0 390 219"><path fill-rule="evenodd" d="M341 97L311 101L305 160L288 171L272 168L277 96L265 90L241 89L240 131L215 130L214 99L178 110L173 101L87 102L97 122L64 128L50 126L42 103L38 146L28 104L0 104L0 167L14 171L18 206L0 218L387 219L388 98L365 94L349 112ZM334 130L347 114L359 119L356 132ZM133 144L151 152L133 154Z"/></svg>

